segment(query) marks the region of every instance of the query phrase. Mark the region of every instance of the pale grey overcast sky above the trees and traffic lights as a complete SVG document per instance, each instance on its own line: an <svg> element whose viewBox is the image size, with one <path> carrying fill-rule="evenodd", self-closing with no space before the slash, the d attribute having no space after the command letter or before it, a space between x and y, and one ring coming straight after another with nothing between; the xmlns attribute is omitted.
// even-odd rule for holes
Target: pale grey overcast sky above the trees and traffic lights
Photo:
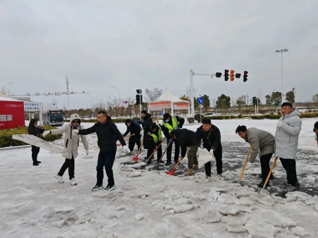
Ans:
<svg viewBox="0 0 318 238"><path fill-rule="evenodd" d="M16 94L89 91L95 102L108 95L134 97L136 89L170 88L180 97L189 71L235 73L225 82L195 76L198 94L262 98L296 88L296 101L318 92L317 0L1 0L0 87ZM58 105L66 96L55 97ZM52 96L33 96L49 102ZM91 105L72 95L70 107Z"/></svg>

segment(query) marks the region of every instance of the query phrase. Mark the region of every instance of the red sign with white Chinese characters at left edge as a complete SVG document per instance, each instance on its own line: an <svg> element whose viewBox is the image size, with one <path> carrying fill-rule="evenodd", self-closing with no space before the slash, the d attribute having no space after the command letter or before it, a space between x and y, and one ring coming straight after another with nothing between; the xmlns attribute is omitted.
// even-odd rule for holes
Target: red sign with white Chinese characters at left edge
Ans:
<svg viewBox="0 0 318 238"><path fill-rule="evenodd" d="M0 130L24 126L23 102L0 101Z"/></svg>

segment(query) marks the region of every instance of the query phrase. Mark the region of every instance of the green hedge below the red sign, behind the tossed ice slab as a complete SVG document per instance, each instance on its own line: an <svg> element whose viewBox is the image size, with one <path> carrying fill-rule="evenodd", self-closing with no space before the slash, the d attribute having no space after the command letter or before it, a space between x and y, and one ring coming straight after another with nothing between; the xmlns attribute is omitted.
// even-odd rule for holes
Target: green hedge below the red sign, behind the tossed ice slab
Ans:
<svg viewBox="0 0 318 238"><path fill-rule="evenodd" d="M56 127L51 127L51 126L45 126L45 130L53 130L57 129ZM27 145L26 143L19 141L19 140L14 140L12 139L12 135L15 134L27 134L27 127L18 127L18 128L11 128L11 129L6 129L6 130L0 130L0 148L2 147L8 147L8 146L23 146ZM44 139L45 141L54 141L57 139L60 139L63 134L59 135L50 135L46 136L45 138L41 136L41 139Z"/></svg>

